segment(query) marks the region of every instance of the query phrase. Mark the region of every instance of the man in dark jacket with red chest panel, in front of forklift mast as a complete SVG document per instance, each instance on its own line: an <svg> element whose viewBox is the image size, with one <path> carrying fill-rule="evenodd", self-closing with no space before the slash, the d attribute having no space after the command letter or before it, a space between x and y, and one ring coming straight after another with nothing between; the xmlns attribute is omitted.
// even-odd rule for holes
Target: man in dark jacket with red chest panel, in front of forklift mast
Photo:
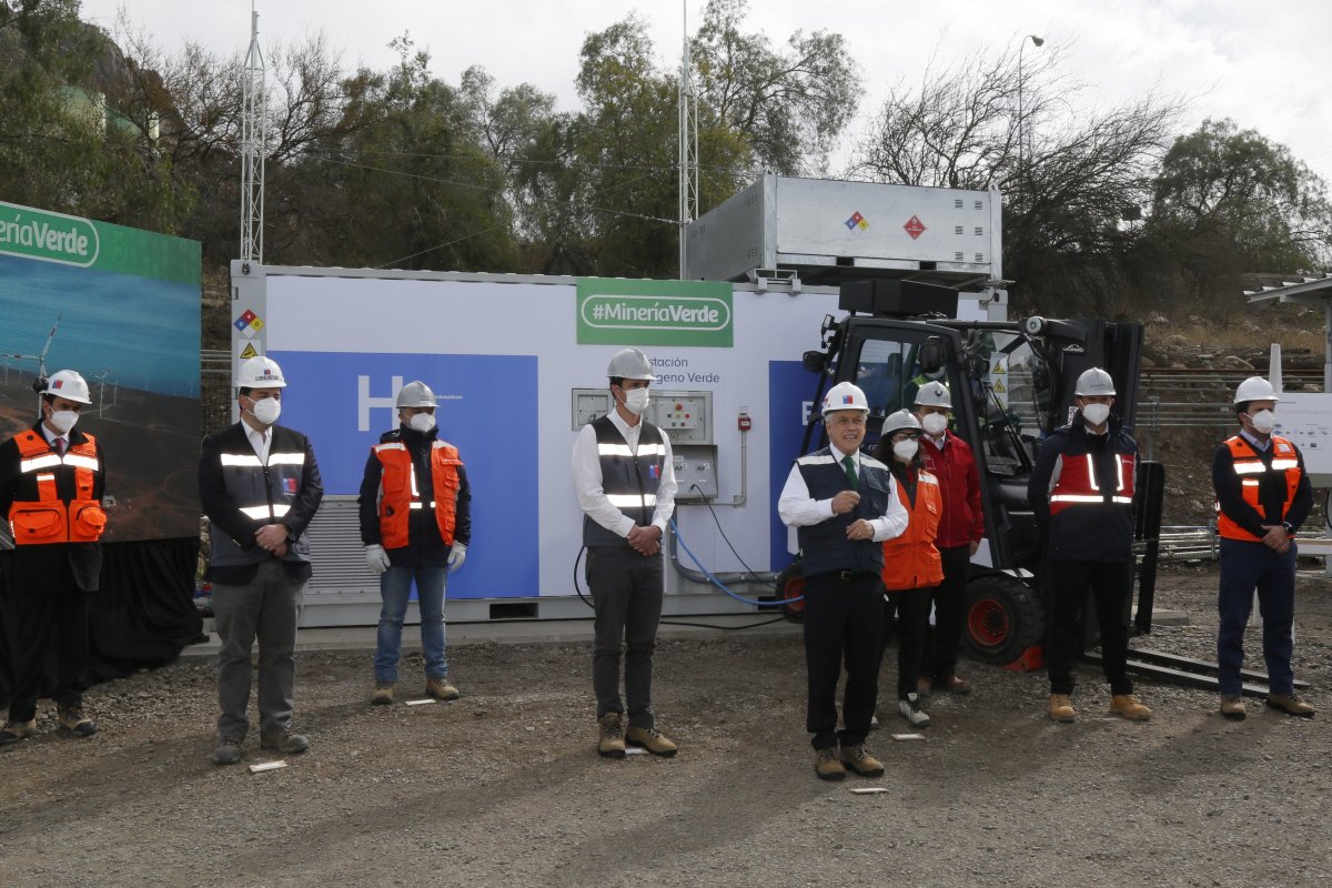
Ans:
<svg viewBox="0 0 1332 888"><path fill-rule="evenodd" d="M1100 627L1102 668L1110 682L1110 711L1146 722L1152 711L1134 696L1128 678L1138 443L1111 415L1115 382L1108 373L1086 370L1074 395L1074 421L1046 438L1027 483L1027 498L1046 535L1048 714L1064 723L1078 718L1071 699L1074 660L1082 654L1080 623L1090 590Z"/></svg>

